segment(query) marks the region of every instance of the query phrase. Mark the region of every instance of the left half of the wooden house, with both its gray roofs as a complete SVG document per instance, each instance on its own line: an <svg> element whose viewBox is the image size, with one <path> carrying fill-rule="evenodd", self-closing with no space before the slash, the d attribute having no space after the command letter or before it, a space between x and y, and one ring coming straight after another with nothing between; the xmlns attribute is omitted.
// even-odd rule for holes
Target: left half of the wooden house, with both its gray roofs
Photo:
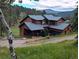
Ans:
<svg viewBox="0 0 79 59"><path fill-rule="evenodd" d="M41 36L44 30L42 23L45 18L41 15L28 15L20 21L20 35Z"/></svg>

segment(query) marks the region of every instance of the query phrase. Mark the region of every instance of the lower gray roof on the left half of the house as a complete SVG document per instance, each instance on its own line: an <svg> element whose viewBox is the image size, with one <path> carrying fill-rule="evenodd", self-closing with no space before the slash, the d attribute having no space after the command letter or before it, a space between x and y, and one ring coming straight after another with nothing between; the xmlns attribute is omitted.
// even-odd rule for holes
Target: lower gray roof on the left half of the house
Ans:
<svg viewBox="0 0 79 59"><path fill-rule="evenodd" d="M31 23L31 22L25 22L25 25L26 25L31 31L34 31L34 30L43 30L43 29L44 29L42 25L34 24L34 23Z"/></svg>

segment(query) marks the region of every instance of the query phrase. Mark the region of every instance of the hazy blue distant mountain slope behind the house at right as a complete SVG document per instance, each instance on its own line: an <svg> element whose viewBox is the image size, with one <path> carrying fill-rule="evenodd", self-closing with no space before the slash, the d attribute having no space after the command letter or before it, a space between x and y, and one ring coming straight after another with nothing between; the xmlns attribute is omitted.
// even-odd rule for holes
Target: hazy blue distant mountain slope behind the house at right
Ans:
<svg viewBox="0 0 79 59"><path fill-rule="evenodd" d="M51 9L45 9L43 10L43 12L45 14L53 14L55 16L60 16L60 17L63 17L63 18L66 18L66 17L73 17L74 15L74 12L76 10L72 10L72 11L54 11L54 10L51 10Z"/></svg>

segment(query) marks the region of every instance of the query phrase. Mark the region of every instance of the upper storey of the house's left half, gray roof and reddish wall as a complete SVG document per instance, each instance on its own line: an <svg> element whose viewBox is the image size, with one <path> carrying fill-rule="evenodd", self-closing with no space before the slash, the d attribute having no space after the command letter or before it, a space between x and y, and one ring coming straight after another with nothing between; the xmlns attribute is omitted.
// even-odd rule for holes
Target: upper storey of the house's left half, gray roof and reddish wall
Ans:
<svg viewBox="0 0 79 59"><path fill-rule="evenodd" d="M33 22L36 24L42 24L42 21L44 20L44 17L41 15L28 15L23 20L20 21L20 23L23 22Z"/></svg>

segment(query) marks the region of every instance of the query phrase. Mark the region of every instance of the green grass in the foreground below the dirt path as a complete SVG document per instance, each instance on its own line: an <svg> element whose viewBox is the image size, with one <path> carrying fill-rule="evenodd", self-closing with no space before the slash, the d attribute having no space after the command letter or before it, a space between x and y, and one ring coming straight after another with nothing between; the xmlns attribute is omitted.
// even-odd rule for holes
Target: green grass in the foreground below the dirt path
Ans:
<svg viewBox="0 0 79 59"><path fill-rule="evenodd" d="M75 41L64 41L25 48L16 48L18 59L78 59ZM7 48L1 48L0 59L10 59Z"/></svg>

